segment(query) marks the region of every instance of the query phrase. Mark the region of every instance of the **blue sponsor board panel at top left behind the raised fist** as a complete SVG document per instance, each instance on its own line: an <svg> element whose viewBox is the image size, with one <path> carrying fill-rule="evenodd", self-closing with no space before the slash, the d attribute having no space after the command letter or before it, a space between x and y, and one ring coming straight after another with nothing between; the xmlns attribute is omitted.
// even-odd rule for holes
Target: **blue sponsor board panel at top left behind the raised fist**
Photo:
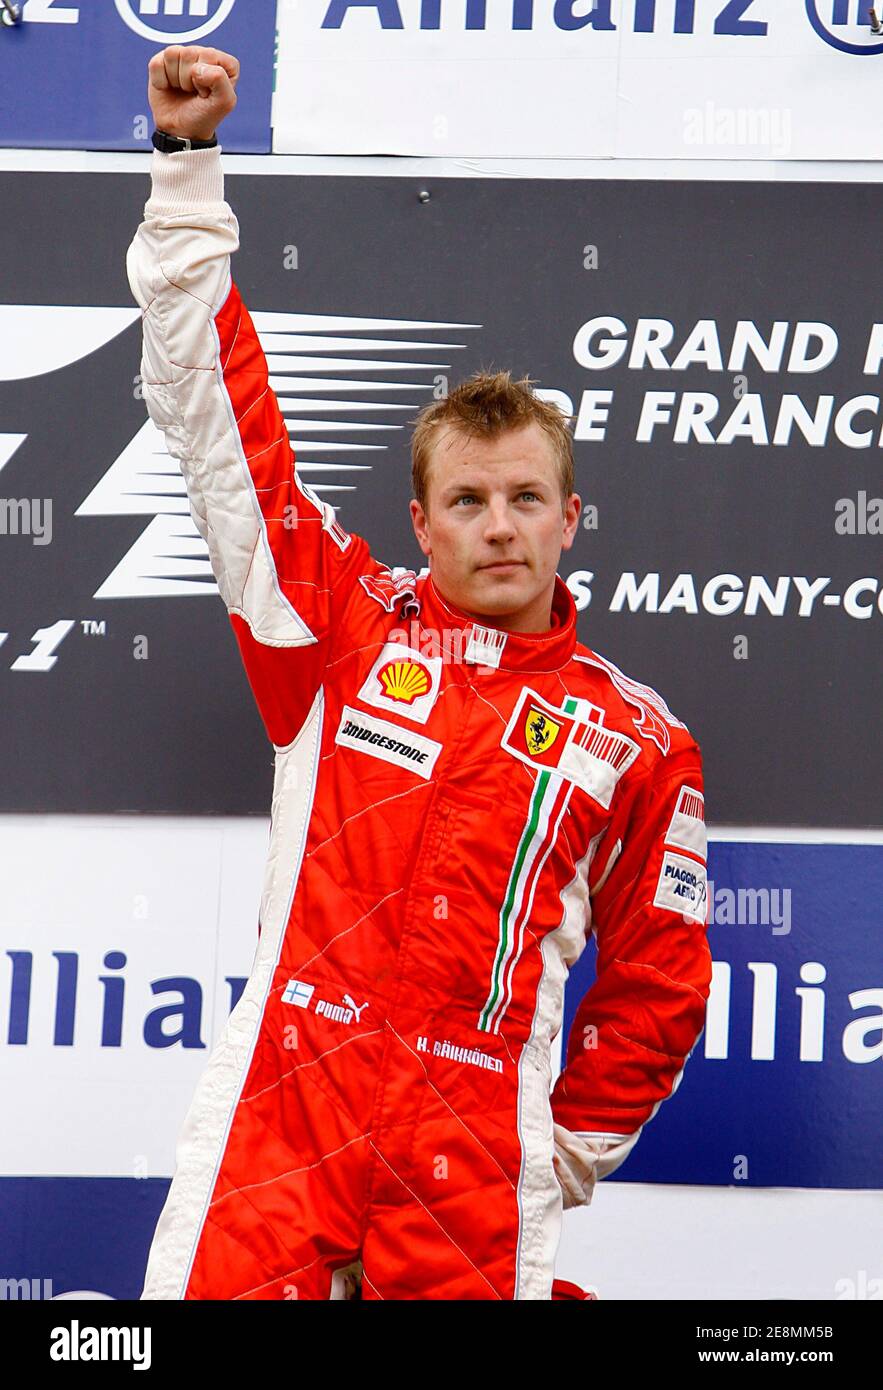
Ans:
<svg viewBox="0 0 883 1390"><path fill-rule="evenodd" d="M270 149L275 0L24 0L21 14L0 22L0 145L146 150L147 60L204 43L245 70L227 149Z"/></svg>

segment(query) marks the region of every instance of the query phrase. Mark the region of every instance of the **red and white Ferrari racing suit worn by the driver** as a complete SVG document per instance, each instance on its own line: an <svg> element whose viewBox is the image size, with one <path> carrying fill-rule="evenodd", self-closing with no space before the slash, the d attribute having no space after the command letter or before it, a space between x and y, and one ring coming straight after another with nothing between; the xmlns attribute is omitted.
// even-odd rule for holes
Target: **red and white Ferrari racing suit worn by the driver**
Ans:
<svg viewBox="0 0 883 1390"><path fill-rule="evenodd" d="M229 278L220 150L153 156L142 378L275 748L252 972L200 1079L145 1298L551 1297L562 1208L705 1019L699 749L577 641L484 627L298 477ZM271 327L271 325L268 325ZM597 980L552 1087L567 970Z"/></svg>

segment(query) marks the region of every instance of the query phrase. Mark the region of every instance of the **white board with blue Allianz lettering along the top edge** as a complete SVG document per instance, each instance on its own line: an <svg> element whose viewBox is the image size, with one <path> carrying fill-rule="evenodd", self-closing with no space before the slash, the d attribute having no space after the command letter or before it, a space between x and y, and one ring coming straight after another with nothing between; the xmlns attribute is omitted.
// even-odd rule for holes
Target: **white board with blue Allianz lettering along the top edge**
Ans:
<svg viewBox="0 0 883 1390"><path fill-rule="evenodd" d="M280 6L277 153L877 160L869 0Z"/></svg>

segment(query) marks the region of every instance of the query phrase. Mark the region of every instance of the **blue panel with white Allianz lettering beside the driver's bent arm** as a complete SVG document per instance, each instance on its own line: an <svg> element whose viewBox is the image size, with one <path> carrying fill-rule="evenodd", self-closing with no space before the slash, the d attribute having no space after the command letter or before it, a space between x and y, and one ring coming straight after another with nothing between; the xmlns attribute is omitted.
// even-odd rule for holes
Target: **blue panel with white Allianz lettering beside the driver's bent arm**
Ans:
<svg viewBox="0 0 883 1390"><path fill-rule="evenodd" d="M883 1187L883 847L715 841L705 1031L624 1182ZM565 1029L594 977L570 974Z"/></svg>

